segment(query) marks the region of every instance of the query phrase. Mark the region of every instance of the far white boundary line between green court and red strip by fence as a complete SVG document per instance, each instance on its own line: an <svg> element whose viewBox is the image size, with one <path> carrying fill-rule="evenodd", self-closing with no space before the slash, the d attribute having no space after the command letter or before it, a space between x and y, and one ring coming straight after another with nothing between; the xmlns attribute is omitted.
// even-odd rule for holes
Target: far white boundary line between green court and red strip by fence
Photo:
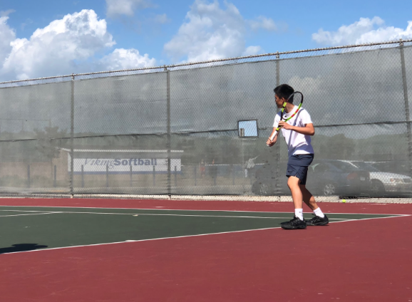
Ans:
<svg viewBox="0 0 412 302"><path fill-rule="evenodd" d="M380 204L377 204L380 205ZM155 210L155 211L193 211L193 212L249 212L249 213L289 213L291 212L269 212L269 211L234 211L234 210L225 210L225 209L153 209L153 208L106 208L106 207L51 207L51 206L2 206L1 207L31 207L31 208L63 208L63 209L147 209L147 210ZM1 210L6 211L6 210ZM304 212L309 213L311 212ZM384 214L384 213L332 213L332 212L325 212L326 214L359 214L359 215L398 215L398 216L412 216L412 214ZM293 214L293 213L292 213Z"/></svg>

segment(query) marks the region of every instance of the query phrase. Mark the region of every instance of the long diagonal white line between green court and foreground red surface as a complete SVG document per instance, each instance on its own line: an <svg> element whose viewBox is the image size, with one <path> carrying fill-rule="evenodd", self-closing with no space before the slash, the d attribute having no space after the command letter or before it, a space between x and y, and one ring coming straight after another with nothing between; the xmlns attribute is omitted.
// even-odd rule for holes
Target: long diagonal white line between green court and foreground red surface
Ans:
<svg viewBox="0 0 412 302"><path fill-rule="evenodd" d="M55 213L58 213L58 212L55 212ZM62 212L62 213L64 213L64 212ZM399 215L399 216L391 216L391 217L374 217L374 218L365 218L365 219L348 219L348 220L343 220L341 222L355 222L355 221L361 221L361 220L395 218L395 217L403 217L403 216L411 216L411 215ZM282 217L282 218L284 218L284 217ZM331 223L337 223L337 222L331 222ZM232 234L232 233L241 233L241 232L244 232L244 231L262 231L262 230L265 230L265 229L281 229L281 228L282 227L269 227L269 228L264 228L264 229L244 229L244 230L241 230L241 231L221 231L221 232L218 232L218 233L196 234L196 235L185 235L185 236L174 236L174 237L162 237L162 238L140 239L140 240L126 240L126 241L118 241L118 242L109 242L109 243L105 243L105 244L85 244L85 245L78 245L78 246L53 247L51 249L34 249L32 251L13 251L11 253L4 253L4 254L29 253L29 252L33 252L33 251L48 251L48 250L54 250L54 249L71 249L71 248L83 247L83 246L101 246L101 245L109 245L109 244L125 244L125 243L130 243L130 242L155 241L155 240L161 240L161 239L175 239L175 238L198 237L198 236L218 235L218 234ZM2 254L2 255L4 255L4 254Z"/></svg>

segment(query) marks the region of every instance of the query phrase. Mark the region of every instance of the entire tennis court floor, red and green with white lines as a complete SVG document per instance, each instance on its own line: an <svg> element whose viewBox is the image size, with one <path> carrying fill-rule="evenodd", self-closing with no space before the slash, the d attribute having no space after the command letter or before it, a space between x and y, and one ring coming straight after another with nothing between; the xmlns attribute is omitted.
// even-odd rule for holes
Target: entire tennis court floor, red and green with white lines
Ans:
<svg viewBox="0 0 412 302"><path fill-rule="evenodd" d="M328 203L299 231L284 202L0 204L4 301L412 300L412 204Z"/></svg>

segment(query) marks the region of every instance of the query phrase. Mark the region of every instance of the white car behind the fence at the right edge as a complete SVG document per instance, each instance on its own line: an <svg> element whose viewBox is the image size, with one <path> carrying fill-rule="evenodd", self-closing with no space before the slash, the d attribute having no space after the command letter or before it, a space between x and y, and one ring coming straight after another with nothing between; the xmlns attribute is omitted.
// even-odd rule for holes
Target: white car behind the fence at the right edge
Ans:
<svg viewBox="0 0 412 302"><path fill-rule="evenodd" d="M359 169L369 171L371 175L371 191L375 193L383 192L412 192L412 178L407 175L381 172L376 167L367 162L342 160L349 162Z"/></svg>

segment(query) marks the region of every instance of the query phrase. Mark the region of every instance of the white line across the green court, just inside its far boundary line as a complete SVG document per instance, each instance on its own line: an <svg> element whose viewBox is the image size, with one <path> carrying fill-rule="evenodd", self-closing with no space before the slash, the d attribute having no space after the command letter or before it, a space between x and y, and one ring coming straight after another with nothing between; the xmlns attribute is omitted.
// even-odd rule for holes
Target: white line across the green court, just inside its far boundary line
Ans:
<svg viewBox="0 0 412 302"><path fill-rule="evenodd" d="M0 210L10 212L43 212L43 211L24 211L24 210ZM138 216L177 216L177 217L226 217L226 218L260 218L260 219L288 219L289 217L261 217L261 216L231 216L231 215L190 215L190 214L151 214L151 213L107 213L107 212L48 212L44 214L108 214L108 215L138 215ZM24 216L21 215L7 215L7 216ZM31 214L26 214L31 215ZM1 216L0 216L1 217ZM346 218L329 218L329 220L342 220ZM346 219L347 220L347 219Z"/></svg>

